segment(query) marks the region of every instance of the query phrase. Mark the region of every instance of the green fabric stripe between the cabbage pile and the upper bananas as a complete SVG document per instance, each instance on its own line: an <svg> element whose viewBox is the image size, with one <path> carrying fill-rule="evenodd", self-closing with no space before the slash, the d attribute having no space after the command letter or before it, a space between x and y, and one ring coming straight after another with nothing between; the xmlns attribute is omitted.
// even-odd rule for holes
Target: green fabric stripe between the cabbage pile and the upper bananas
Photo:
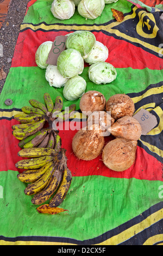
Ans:
<svg viewBox="0 0 163 256"><path fill-rule="evenodd" d="M96 85L89 80L88 67L84 68L82 77L87 82L86 90L97 90L103 93L106 100L111 95L117 93L137 93L144 90L149 84L155 84L162 81L163 70L151 70L151 69L132 69L123 68L117 70L117 78L110 84ZM162 73L162 74L161 74ZM29 106L30 99L36 99L43 103L43 94L49 93L53 100L57 95L62 95L63 88L50 87L45 78L45 70L39 67L18 67L11 68L5 86L1 93L0 108L22 108L23 106ZM11 99L13 101L11 106L6 106L4 101ZM64 99L64 97L63 97ZM64 107L75 103L77 109L79 109L80 99L76 101L65 101Z"/></svg>

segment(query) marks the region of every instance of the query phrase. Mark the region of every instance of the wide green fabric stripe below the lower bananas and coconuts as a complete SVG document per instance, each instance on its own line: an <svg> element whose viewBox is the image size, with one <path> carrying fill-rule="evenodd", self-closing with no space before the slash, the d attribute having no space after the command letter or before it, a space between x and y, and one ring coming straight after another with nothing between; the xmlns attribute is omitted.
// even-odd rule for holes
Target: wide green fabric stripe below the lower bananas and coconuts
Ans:
<svg viewBox="0 0 163 256"><path fill-rule="evenodd" d="M1 235L7 237L50 235L91 239L131 220L161 201L161 181L73 177L70 191L60 205L60 208L68 211L54 216L43 215L30 202L32 196L23 193L27 185L16 176L17 172L11 170L0 172L0 185L3 188L0 197Z"/></svg>

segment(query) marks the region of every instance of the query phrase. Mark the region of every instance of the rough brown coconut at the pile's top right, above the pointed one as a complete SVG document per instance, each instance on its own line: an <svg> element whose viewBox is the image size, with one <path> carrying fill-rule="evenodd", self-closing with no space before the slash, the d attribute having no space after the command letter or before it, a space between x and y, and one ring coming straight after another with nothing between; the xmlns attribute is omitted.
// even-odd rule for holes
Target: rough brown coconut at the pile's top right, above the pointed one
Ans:
<svg viewBox="0 0 163 256"><path fill-rule="evenodd" d="M115 120L128 115L132 117L135 111L133 100L126 94L115 94L106 102L106 111L111 112Z"/></svg>

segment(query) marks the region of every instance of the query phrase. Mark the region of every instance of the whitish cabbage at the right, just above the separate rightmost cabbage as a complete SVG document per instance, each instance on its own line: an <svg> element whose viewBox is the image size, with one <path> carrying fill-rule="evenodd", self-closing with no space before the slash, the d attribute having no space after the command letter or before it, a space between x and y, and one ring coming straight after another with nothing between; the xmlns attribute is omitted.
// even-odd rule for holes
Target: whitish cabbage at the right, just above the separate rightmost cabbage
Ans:
<svg viewBox="0 0 163 256"><path fill-rule="evenodd" d="M108 59L109 51L108 48L102 44L102 42L96 41L95 46L90 52L89 56L84 60L89 65L97 62L105 62Z"/></svg>

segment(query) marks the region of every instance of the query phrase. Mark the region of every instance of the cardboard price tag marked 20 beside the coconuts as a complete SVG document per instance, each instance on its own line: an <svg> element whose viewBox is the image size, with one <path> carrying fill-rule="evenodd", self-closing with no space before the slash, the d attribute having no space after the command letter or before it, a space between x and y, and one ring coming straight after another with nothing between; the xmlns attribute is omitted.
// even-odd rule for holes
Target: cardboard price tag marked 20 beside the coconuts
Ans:
<svg viewBox="0 0 163 256"><path fill-rule="evenodd" d="M142 127L142 135L147 135L147 133L158 124L155 115L151 114L146 109L141 109L133 117L139 121Z"/></svg>

